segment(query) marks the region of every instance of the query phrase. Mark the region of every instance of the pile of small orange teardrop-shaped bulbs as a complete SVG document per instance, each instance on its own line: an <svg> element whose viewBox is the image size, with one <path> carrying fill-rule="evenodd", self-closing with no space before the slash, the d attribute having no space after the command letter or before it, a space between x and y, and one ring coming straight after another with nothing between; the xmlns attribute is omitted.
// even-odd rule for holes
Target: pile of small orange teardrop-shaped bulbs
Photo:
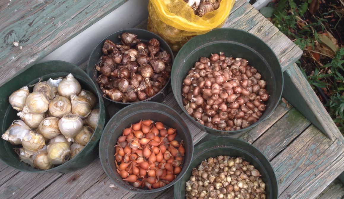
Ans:
<svg viewBox="0 0 344 199"><path fill-rule="evenodd" d="M150 119L124 129L115 145L118 174L136 188L157 189L171 183L182 170L185 154L176 135L176 129Z"/></svg>

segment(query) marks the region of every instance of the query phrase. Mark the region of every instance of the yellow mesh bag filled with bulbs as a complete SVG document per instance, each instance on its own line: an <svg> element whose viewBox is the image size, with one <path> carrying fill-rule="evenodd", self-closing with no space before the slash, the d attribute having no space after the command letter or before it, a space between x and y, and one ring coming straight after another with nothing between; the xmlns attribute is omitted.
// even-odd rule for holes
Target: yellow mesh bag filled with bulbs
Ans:
<svg viewBox="0 0 344 199"><path fill-rule="evenodd" d="M160 35L174 52L193 36L221 27L235 0L222 0L219 8L202 17L183 0L149 0L148 30Z"/></svg>

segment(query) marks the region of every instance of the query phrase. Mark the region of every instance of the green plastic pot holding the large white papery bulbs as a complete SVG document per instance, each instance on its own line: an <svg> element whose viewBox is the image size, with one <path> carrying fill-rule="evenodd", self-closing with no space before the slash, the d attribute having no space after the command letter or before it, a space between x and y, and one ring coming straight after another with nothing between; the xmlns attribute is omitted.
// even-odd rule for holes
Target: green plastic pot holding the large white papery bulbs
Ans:
<svg viewBox="0 0 344 199"><path fill-rule="evenodd" d="M87 76L87 74L79 67L65 62L65 61L46 61L37 63L16 77L12 78L6 84L0 87L0 111L4 117L0 121L1 134L5 132L11 125L13 120L20 119L17 116L17 111L12 108L8 102L8 98L14 91L23 86L37 83L39 78L47 81L49 78L66 77L72 73L79 81L83 89L93 92L98 97L99 103L99 121L96 130L94 131L90 141L86 144L85 148L80 151L74 158L64 164L55 166L48 170L39 170L32 168L30 165L20 162L18 154L14 152L13 148L20 145L12 145L11 143L0 139L0 159L7 165L24 172L35 173L68 173L83 168L91 163L97 157L97 144L105 125L105 106L103 98L98 93L96 85ZM32 92L32 88L30 90Z"/></svg>

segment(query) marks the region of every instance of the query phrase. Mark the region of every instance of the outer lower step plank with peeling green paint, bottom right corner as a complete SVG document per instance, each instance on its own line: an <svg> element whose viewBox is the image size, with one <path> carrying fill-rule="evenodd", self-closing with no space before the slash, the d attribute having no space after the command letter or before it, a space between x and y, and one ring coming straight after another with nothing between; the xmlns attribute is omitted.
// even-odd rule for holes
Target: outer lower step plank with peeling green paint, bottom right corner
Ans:
<svg viewBox="0 0 344 199"><path fill-rule="evenodd" d="M317 180L321 179L314 178L314 175L322 175L325 173L336 177L342 172L342 169L332 170L332 167L336 167L336 162L334 161L337 160L338 156L341 156L342 150L344 150L342 144L341 142L333 142L326 138L314 125L307 128L271 161L278 178L281 198L298 197L300 192L304 190L324 189L325 186L321 184L318 187L314 186L314 183L317 183ZM330 153L333 153L333 155L330 155ZM331 169L324 171L324 165ZM304 172L307 172L309 178L307 175L303 175ZM333 179L331 178L327 176L322 180L324 182L331 180L330 182L332 182ZM291 189L291 186L293 189ZM285 192L285 190L287 191ZM311 192L307 192L307 194L312 195ZM307 194L300 198L308 198Z"/></svg>

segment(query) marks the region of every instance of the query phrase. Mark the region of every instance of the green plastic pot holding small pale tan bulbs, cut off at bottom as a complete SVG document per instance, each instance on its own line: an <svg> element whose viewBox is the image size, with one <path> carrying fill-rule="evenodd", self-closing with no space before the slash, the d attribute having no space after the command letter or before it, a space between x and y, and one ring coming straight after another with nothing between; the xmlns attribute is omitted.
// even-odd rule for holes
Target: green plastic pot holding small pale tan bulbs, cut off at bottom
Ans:
<svg viewBox="0 0 344 199"><path fill-rule="evenodd" d="M234 138L216 138L197 145L189 169L173 187L174 198L185 199L185 183L189 180L193 168L209 157L219 155L241 157L254 165L262 175L261 179L266 184L266 198L278 198L277 179L269 160L251 144Z"/></svg>

